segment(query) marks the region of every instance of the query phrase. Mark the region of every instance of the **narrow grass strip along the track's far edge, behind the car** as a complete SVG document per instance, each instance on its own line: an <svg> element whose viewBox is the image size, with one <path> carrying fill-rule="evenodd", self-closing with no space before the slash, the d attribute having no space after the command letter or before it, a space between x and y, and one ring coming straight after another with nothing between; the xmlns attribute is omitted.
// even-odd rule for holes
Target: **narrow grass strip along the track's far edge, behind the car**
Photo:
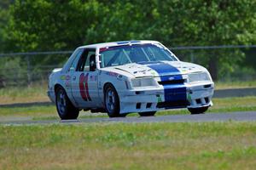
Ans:
<svg viewBox="0 0 256 170"><path fill-rule="evenodd" d="M243 97L243 98L226 98L226 99L213 99L213 106L208 112L231 112L231 111L256 111L256 97ZM158 111L157 115L176 115L176 114L189 114L187 109L181 110L168 110ZM79 118L90 118L96 116L105 116L107 114L89 114L88 112L81 111ZM128 116L138 116L137 113ZM1 108L0 121L9 121L9 117L24 118L29 120L57 120L55 105L48 106L32 106L32 107L8 107Z"/></svg>

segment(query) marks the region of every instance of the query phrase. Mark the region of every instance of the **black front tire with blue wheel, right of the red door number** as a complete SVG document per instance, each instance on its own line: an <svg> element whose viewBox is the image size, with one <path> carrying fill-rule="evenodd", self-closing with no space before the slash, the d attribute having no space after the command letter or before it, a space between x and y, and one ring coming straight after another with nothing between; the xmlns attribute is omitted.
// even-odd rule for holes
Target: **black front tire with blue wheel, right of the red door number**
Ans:
<svg viewBox="0 0 256 170"><path fill-rule="evenodd" d="M105 109L108 112L108 116L109 117L126 116L126 114L120 114L119 95L116 92L113 85L108 84L104 89L105 89L104 104L105 104Z"/></svg>

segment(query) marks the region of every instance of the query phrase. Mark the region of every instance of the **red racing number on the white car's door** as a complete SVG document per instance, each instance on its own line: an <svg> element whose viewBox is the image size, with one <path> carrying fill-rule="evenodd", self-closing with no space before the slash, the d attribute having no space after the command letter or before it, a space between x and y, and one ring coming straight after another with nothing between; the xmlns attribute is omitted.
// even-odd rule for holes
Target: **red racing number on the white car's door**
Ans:
<svg viewBox="0 0 256 170"><path fill-rule="evenodd" d="M82 73L79 77L80 94L85 101L91 101L88 88L88 77L89 73L87 73L85 76L84 73Z"/></svg>

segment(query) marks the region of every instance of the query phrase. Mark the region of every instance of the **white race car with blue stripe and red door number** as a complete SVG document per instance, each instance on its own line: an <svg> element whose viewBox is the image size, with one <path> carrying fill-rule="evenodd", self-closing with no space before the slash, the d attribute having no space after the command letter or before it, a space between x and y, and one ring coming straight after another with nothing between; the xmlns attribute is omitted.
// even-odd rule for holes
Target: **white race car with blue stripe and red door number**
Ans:
<svg viewBox="0 0 256 170"><path fill-rule="evenodd" d="M212 105L214 83L206 68L182 62L156 41L98 43L77 48L49 75L48 96L61 119L79 111L108 116L154 116L156 111Z"/></svg>

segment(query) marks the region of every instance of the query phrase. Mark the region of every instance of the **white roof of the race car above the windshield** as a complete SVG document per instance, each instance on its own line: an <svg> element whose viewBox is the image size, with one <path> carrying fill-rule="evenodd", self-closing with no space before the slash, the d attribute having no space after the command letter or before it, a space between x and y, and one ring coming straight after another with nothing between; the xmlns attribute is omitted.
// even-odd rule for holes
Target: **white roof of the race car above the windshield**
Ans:
<svg viewBox="0 0 256 170"><path fill-rule="evenodd" d="M151 41L151 40L131 40L131 41L120 41L120 42L95 43L95 44L80 46L79 48L108 48L112 46L140 44L140 43L160 43L160 42Z"/></svg>

